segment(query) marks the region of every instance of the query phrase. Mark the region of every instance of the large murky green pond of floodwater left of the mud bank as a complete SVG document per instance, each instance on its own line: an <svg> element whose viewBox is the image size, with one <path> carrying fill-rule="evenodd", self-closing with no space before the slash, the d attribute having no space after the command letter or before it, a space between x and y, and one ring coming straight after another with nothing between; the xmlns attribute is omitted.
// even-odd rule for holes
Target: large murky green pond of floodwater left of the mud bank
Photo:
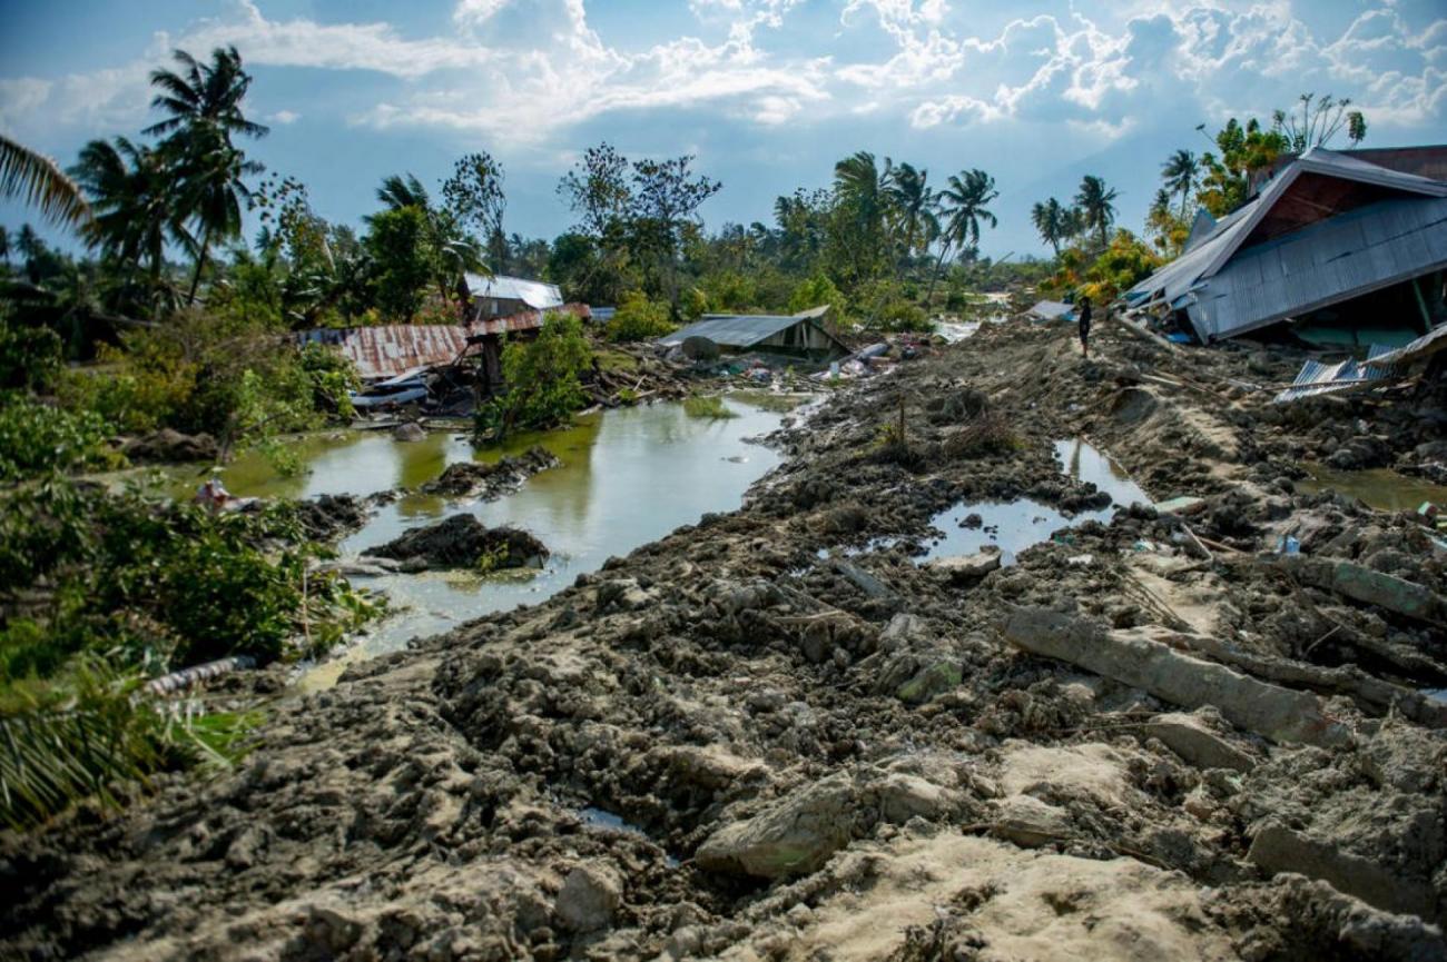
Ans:
<svg viewBox="0 0 1447 962"><path fill-rule="evenodd" d="M796 401L797 402L797 401ZM781 405L729 398L734 418L690 418L677 404L655 404L579 418L567 430L518 437L501 448L473 451L451 433L401 443L386 435L344 434L308 440L298 453L310 472L276 477L263 463L237 461L223 482L239 496L310 498L321 493L368 495L415 489L453 463L496 460L543 444L561 461L531 477L521 490L479 503L410 493L383 505L372 521L340 545L343 557L395 538L446 515L470 512L486 525L521 527L553 551L541 571L478 576L427 571L353 577L360 587L388 595L399 609L339 658L308 673L302 686L324 687L352 661L396 651L411 638L447 631L467 619L550 597L609 556L622 556L709 511L732 511L745 489L778 463L778 456L745 438L771 431ZM764 409L764 408L774 409Z"/></svg>

